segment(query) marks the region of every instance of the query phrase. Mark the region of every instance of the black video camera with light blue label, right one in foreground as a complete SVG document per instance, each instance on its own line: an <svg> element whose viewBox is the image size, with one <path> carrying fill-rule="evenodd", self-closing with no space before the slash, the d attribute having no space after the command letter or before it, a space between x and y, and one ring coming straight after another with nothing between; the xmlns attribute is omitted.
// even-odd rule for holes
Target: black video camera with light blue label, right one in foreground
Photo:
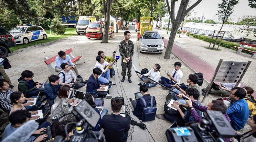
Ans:
<svg viewBox="0 0 256 142"><path fill-rule="evenodd" d="M205 110L201 123L166 130L168 142L224 142L236 135L221 111Z"/></svg>

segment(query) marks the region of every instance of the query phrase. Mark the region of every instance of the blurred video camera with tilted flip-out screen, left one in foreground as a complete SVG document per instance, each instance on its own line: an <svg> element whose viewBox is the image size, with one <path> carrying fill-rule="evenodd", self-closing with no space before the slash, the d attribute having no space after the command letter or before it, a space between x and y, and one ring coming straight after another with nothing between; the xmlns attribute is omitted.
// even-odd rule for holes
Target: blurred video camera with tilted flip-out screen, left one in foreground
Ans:
<svg viewBox="0 0 256 142"><path fill-rule="evenodd" d="M90 106L86 100L82 100L72 113L79 121L71 122L67 125L76 123L76 131L70 140L65 140L62 136L57 136L54 142L104 142L105 136L102 132L92 131L91 129L97 125L100 115ZM67 127L65 127L66 136L68 135Z"/></svg>

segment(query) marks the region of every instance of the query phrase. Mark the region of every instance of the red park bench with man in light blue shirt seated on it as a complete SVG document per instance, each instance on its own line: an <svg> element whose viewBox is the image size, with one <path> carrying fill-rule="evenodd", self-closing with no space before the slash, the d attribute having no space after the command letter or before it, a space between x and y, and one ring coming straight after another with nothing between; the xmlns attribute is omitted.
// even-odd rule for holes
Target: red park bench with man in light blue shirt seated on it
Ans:
<svg viewBox="0 0 256 142"><path fill-rule="evenodd" d="M73 63L76 62L76 61L79 61L82 56L74 57L74 56L72 55L72 53L71 53L72 51L73 51L72 48L66 49L65 53L66 53L66 55L70 56L71 61L72 61ZM56 55L56 56L54 56L54 57L52 57L52 58L50 58L50 59L49 59L48 57L45 57L45 58L44 58L44 62L47 64L47 67L49 68L51 74L55 74L55 75L58 75L58 71L55 70L55 66L54 66L54 64L53 64L52 62L55 61L55 59L56 59L57 56L58 56L58 55Z"/></svg>

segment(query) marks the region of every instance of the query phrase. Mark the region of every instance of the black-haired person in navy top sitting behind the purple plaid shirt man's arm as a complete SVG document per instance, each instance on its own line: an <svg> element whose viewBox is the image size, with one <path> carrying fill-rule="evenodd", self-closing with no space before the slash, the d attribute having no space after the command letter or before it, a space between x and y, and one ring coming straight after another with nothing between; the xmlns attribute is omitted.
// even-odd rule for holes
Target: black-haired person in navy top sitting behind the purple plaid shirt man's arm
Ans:
<svg viewBox="0 0 256 142"><path fill-rule="evenodd" d="M199 92L196 90L196 88L188 88L186 89L186 96L189 97L191 100L197 102L198 104L201 104L201 102L198 100ZM186 108L186 111L183 112L178 105L183 106ZM195 121L194 117L191 115L190 109L188 105L185 105L183 103L180 103L179 101L174 101L171 105L172 107L176 108L179 111L179 114L177 115L169 115L167 113L164 113L164 115L157 114L157 118L159 119L167 119L171 122L174 122L176 120L177 124L179 126L185 126L185 123L188 123L190 121ZM202 115L202 111L195 109L196 112L199 114L199 116Z"/></svg>

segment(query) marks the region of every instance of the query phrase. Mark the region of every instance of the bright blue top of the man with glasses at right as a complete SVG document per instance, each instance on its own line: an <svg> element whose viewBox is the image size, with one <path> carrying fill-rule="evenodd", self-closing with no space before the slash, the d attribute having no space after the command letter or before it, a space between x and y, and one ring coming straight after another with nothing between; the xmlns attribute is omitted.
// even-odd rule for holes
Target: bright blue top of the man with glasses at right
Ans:
<svg viewBox="0 0 256 142"><path fill-rule="evenodd" d="M232 100L231 105L227 108L226 113L234 122L235 130L243 129L249 117L249 107L246 100L244 98Z"/></svg>

